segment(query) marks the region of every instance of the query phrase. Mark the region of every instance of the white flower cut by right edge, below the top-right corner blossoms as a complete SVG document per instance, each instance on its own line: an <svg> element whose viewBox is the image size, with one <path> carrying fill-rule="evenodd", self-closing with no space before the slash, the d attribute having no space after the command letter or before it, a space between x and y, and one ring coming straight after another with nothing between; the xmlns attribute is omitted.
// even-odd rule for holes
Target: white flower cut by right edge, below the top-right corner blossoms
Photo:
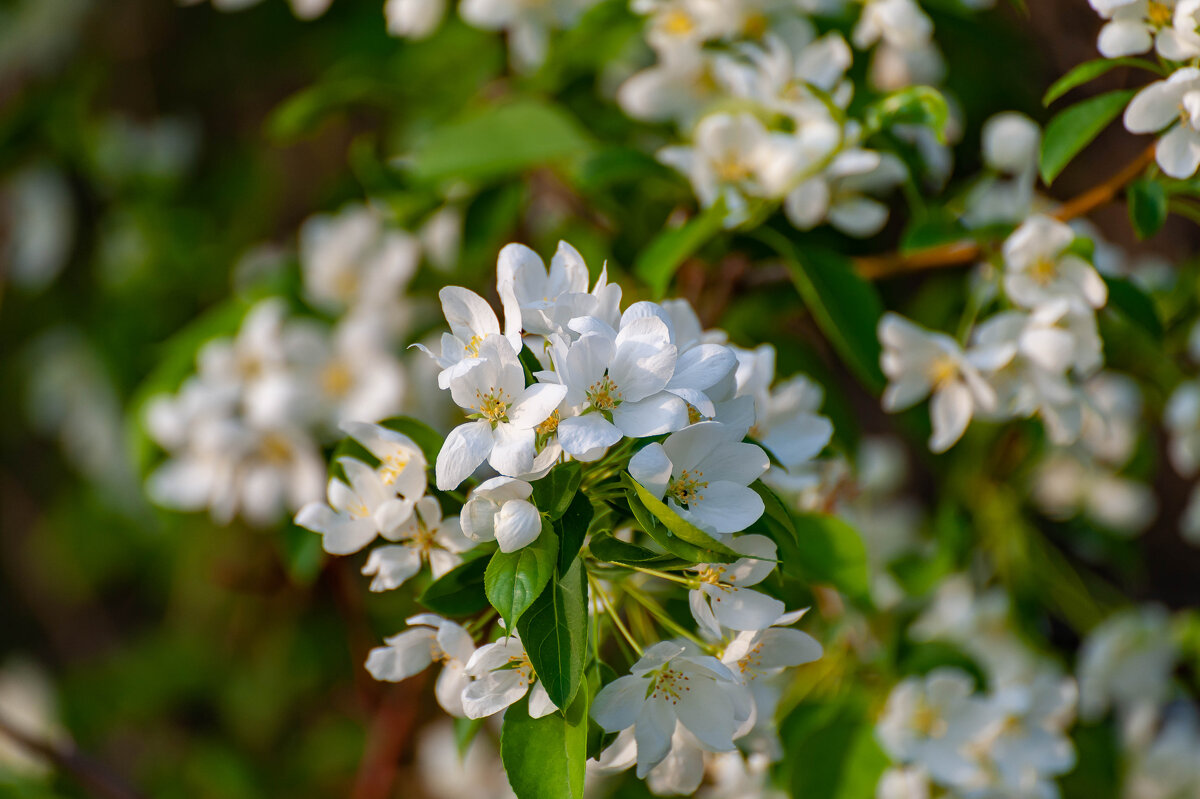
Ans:
<svg viewBox="0 0 1200 799"><path fill-rule="evenodd" d="M1166 80L1156 80L1126 108L1124 125L1130 133L1156 133L1154 157L1171 178L1184 179L1200 167L1200 70L1183 67Z"/></svg>

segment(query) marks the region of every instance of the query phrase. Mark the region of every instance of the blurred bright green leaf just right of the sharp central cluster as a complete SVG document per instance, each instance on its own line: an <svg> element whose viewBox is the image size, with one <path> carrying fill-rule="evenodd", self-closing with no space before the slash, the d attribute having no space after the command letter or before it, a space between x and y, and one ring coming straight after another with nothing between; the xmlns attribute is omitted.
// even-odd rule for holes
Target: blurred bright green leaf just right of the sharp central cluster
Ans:
<svg viewBox="0 0 1200 799"><path fill-rule="evenodd" d="M784 571L809 582L832 583L847 596L869 596L866 547L851 525L834 516L796 513L796 542L782 549Z"/></svg>

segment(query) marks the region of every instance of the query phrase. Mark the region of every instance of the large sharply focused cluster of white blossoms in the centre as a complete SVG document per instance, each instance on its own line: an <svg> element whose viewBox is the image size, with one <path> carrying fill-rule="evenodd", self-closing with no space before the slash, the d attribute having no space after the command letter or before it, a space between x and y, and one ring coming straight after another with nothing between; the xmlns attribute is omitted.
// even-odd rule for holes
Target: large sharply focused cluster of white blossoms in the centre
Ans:
<svg viewBox="0 0 1200 799"><path fill-rule="evenodd" d="M791 629L803 612L787 613L758 588L775 569L775 542L744 531L764 512L751 483L763 477L805 486L814 479L812 459L833 433L816 414L821 391L804 378L773 389L773 350L727 344L722 332L704 331L684 301L635 302L622 311L620 287L608 283L606 270L592 283L583 258L565 242L548 269L529 248L509 245L497 274L503 326L482 298L448 287L440 296L450 331L439 353L421 347L442 368L438 385L467 416L436 463L400 432L343 423L378 465L340 458L346 481L330 480L329 504L305 506L296 522L322 533L325 549L336 554L383 536L388 543L370 553L364 572L374 577L372 589L385 590L426 563L436 579L464 558L497 549L498 558L553 535L534 491L556 468L578 462L586 477L600 480L624 470L662 512L743 557L692 563L674 575L629 570L686 584L697 631L672 624L670 632L680 637L644 653L634 644L641 657L630 674L599 691L593 719L620 733L600 769L636 763L655 791L691 793L701 767L738 745L778 759L782 674L820 657L821 645ZM638 439L648 440L634 451ZM443 498L476 473L496 476L458 499L457 517L443 517L438 499L426 493L428 465ZM589 501L600 501L606 485L611 491L611 482L593 486ZM590 613L616 615L611 595L618 593L655 602L637 581L592 575L593 564L619 564L596 561L587 549L580 557L589 564ZM532 717L554 711L517 630L493 627L500 637L485 635L476 647L480 629L427 613L408 625L371 653L367 669L376 678L402 680L440 662L437 696L451 715L491 716L526 696Z"/></svg>

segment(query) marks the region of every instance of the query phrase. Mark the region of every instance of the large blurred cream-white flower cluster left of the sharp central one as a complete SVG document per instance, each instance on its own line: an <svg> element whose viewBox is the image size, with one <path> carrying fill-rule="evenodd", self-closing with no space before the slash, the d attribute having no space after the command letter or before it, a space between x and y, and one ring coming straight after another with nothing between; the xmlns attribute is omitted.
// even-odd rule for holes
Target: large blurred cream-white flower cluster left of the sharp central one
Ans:
<svg viewBox="0 0 1200 799"><path fill-rule="evenodd" d="M206 507L221 522L275 523L320 495L320 445L338 423L403 410L392 347L412 320L403 290L420 248L352 206L311 220L300 256L307 301L336 323L294 314L272 296L250 308L234 337L206 342L196 373L145 408L169 456L148 482L155 501Z"/></svg>

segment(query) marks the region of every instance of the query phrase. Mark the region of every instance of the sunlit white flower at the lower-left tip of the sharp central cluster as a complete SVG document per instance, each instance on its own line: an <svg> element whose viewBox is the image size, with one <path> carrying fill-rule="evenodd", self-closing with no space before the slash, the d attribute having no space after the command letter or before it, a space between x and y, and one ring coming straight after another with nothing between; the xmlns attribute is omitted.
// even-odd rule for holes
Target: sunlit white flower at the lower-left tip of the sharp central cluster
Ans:
<svg viewBox="0 0 1200 799"><path fill-rule="evenodd" d="M384 638L386 645L376 647L367 655L366 668L371 677L398 683L433 663L443 663L434 687L438 704L451 716L464 716L462 692L469 683L467 662L475 654L470 633L432 613L414 615L404 623L412 630Z"/></svg>

